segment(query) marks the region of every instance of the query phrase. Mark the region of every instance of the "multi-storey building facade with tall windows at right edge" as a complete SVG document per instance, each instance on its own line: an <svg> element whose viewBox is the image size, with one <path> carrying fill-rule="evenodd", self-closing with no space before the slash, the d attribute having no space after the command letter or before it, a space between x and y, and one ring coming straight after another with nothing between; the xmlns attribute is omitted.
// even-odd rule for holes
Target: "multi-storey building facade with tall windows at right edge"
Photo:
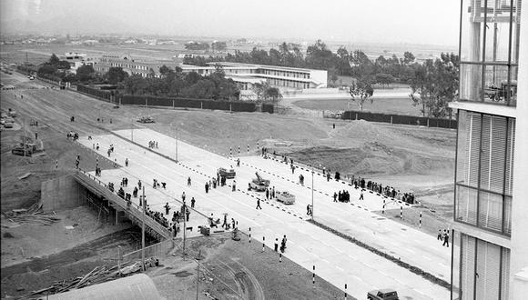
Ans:
<svg viewBox="0 0 528 300"><path fill-rule="evenodd" d="M462 0L452 299L528 299L528 5ZM523 12L522 12L523 11Z"/></svg>

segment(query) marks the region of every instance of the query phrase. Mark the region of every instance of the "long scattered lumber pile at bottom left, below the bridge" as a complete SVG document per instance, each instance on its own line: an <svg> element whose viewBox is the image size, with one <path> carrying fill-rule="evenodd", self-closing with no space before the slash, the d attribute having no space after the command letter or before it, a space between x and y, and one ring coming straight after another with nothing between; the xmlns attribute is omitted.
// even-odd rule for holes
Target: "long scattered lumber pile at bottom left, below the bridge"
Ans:
<svg viewBox="0 0 528 300"><path fill-rule="evenodd" d="M141 270L141 261L125 262L121 264L121 272L117 265L108 268L107 265L96 266L90 273L82 277L74 277L69 280L57 281L46 288L22 295L19 299L35 299L42 295L54 295L65 293L69 290L82 288L88 285L101 284L117 279L123 275L129 275Z"/></svg>

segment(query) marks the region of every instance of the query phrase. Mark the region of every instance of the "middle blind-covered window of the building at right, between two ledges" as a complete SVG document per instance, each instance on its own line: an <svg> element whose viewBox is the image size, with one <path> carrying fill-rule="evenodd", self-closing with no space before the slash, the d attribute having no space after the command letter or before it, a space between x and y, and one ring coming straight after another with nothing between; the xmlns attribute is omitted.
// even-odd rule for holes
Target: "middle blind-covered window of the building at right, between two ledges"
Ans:
<svg viewBox="0 0 528 300"><path fill-rule="evenodd" d="M510 235L513 118L459 112L455 220Z"/></svg>

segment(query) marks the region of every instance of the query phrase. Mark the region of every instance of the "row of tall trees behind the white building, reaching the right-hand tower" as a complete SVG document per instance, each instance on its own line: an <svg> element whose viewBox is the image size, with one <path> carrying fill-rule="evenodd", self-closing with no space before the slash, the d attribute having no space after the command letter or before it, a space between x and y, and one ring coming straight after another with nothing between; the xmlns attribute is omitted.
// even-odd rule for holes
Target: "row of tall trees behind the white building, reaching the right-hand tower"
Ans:
<svg viewBox="0 0 528 300"><path fill-rule="evenodd" d="M352 100L358 100L360 108L373 95L372 85L402 83L411 86L413 105L421 106L422 115L445 117L449 115L447 103L458 96L459 57L443 54L440 58L416 61L411 52L403 57L378 56L372 60L361 50L348 51L340 47L336 53L318 40L307 48L305 54L299 45L282 43L278 49L269 51L253 48L250 52L236 51L225 57L209 56L186 58L188 65L207 65L214 61L245 64L281 65L300 68L322 69L329 72L329 81L334 85L339 75L352 76L356 82L349 87Z"/></svg>

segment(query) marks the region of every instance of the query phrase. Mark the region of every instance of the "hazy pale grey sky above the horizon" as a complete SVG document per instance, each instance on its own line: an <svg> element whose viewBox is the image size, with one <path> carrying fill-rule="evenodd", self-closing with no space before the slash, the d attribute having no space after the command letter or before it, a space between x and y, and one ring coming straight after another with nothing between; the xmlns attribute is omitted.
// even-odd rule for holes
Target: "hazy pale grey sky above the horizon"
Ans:
<svg viewBox="0 0 528 300"><path fill-rule="evenodd" d="M7 28L82 20L71 34L321 38L351 42L457 45L458 0L0 0ZM54 21L55 20L55 21ZM43 25L42 28L47 28ZM64 28L64 27L63 27Z"/></svg>

